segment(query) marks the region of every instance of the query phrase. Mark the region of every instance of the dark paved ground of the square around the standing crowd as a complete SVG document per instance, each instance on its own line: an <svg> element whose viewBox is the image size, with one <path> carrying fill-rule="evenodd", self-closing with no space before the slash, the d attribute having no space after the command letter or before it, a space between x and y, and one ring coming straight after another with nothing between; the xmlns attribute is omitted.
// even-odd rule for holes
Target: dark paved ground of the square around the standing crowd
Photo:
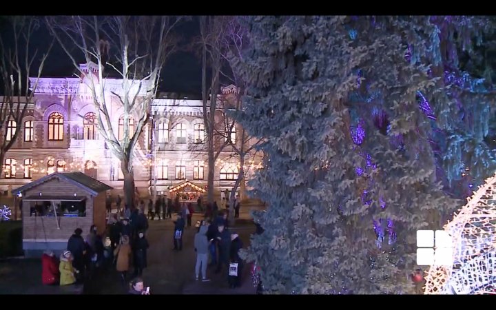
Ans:
<svg viewBox="0 0 496 310"><path fill-rule="evenodd" d="M195 214L192 220L201 218ZM251 285L249 268L245 267L242 286L229 289L227 271L215 275L210 268L207 271L211 282L197 282L194 275L196 253L193 240L196 227L185 230L183 251L172 250L172 220L154 220L149 222L147 238L150 244L148 251L148 268L143 271L145 286L150 287L153 294L254 294ZM249 219L249 211L242 210L240 220L231 231L240 235L244 247L249 245L249 236L255 230ZM114 269L101 273L85 283L84 293L122 294L127 292ZM81 287L48 287L41 285L41 261L16 259L0 261L0 295L1 294L75 294L81 293Z"/></svg>

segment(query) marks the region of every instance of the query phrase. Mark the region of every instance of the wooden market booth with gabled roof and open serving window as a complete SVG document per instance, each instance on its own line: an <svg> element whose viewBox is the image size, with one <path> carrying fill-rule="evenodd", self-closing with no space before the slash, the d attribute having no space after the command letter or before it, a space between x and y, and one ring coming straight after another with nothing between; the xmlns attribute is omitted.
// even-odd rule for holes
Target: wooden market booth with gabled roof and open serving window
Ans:
<svg viewBox="0 0 496 310"><path fill-rule="evenodd" d="M22 199L25 256L41 256L45 250L60 253L76 228L83 229L83 238L91 225L103 234L109 189L82 172L55 172L12 190Z"/></svg>

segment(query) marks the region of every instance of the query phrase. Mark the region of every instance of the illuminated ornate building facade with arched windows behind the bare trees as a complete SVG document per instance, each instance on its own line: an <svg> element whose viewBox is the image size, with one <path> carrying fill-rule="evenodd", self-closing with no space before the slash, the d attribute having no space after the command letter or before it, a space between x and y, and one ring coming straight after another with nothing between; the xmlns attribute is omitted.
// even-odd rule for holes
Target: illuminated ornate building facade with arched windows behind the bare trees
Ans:
<svg viewBox="0 0 496 310"><path fill-rule="evenodd" d="M99 134L96 114L87 76L95 67L81 65L86 77L41 78L34 93L34 103L28 106L17 142L6 154L0 189L9 191L53 172L83 172L114 188L114 194L123 191L123 174L120 162L112 154ZM35 79L32 78L31 85ZM123 138L123 106L118 101L121 80L105 79L105 101L112 128L120 140ZM234 85L223 87L220 103L237 91ZM225 130L222 105L216 112L218 131ZM167 194L172 187L189 180L198 187L207 185L207 153L203 103L188 99L155 99L149 107L150 120L141 132L133 153L135 185L140 196L154 190ZM129 120L130 132L137 125L138 115ZM12 138L15 123L3 126L3 136ZM232 126L231 141L239 126ZM222 145L223 138L216 138ZM239 158L232 146L226 143L216 161L214 187L216 192L231 189L239 172ZM238 145L235 144L235 145ZM254 159L247 161L249 176L256 168Z"/></svg>

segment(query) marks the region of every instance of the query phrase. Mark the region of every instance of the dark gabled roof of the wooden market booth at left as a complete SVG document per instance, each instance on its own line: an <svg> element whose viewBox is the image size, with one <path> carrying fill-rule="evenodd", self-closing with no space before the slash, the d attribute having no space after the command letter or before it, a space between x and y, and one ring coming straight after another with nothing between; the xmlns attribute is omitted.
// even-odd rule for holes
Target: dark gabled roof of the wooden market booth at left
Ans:
<svg viewBox="0 0 496 310"><path fill-rule="evenodd" d="M112 187L106 185L105 183L101 183L99 180L96 180L91 176L87 176L86 174L83 174L83 172L54 172L53 174L49 174L48 176L43 176L43 178L34 180L31 183L23 185L17 189L13 189L12 194L17 195L19 194L19 192L24 192L27 189L31 189L32 187L41 185L47 182L48 180L52 180L52 178L61 178L63 180L67 180L68 182L78 187L81 187L86 192L94 196L108 189L112 189Z"/></svg>

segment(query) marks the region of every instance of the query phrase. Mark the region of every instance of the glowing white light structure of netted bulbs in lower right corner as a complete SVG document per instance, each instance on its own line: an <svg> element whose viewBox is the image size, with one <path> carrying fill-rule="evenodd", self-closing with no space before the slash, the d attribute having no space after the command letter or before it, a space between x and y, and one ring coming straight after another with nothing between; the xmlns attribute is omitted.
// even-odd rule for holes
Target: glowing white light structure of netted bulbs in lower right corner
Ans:
<svg viewBox="0 0 496 310"><path fill-rule="evenodd" d="M479 187L453 220L453 265L431 266L426 294L496 293L496 175Z"/></svg>

